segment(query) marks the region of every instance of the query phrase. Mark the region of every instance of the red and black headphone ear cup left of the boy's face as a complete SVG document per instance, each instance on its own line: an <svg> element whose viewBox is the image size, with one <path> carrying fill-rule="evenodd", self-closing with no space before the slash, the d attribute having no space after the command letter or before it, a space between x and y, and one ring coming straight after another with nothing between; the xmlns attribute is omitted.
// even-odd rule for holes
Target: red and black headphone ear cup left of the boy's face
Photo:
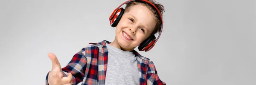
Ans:
<svg viewBox="0 0 256 85"><path fill-rule="evenodd" d="M120 10L120 12L119 12ZM115 14L115 16L113 17L113 19L111 20L113 22L113 24L111 25L112 27L116 27L117 24L119 23L119 21L121 20L122 18L122 15L124 14L125 12L125 9L124 8L119 8L117 13L119 14Z"/></svg>

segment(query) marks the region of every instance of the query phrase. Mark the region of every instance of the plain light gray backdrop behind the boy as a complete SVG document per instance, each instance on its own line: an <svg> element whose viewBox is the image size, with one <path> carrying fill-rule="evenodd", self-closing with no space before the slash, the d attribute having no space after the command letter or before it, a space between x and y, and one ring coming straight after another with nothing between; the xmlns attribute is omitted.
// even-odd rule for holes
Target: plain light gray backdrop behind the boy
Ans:
<svg viewBox="0 0 256 85"><path fill-rule="evenodd" d="M48 52L64 67L89 42L113 41L125 0L1 0L1 85L44 85ZM167 85L256 85L256 0L158 0L164 30L149 52ZM137 50L137 48L136 48Z"/></svg>

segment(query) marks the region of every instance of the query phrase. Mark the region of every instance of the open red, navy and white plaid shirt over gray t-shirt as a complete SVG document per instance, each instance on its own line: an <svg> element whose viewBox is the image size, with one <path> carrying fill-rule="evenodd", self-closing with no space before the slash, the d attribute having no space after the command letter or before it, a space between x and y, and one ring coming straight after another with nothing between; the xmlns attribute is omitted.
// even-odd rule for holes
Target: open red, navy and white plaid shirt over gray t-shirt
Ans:
<svg viewBox="0 0 256 85"><path fill-rule="evenodd" d="M82 82L81 85L104 85L107 65L108 49L106 40L98 43L90 43L76 53L66 67L62 68L64 77L68 73L73 75L73 85ZM137 57L137 66L140 76L140 85L166 85L157 75L156 68L152 61L134 51ZM49 74L49 72L48 72ZM48 84L48 74L46 85Z"/></svg>

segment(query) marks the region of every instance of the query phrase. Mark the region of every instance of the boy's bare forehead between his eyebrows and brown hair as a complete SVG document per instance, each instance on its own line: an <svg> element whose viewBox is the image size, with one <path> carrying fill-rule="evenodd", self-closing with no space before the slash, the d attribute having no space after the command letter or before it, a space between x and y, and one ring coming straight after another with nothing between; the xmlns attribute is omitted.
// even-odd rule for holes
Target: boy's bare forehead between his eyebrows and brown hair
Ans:
<svg viewBox="0 0 256 85"><path fill-rule="evenodd" d="M148 30L152 30L156 24L151 10L140 4L132 6L124 15L134 17L135 23L144 25Z"/></svg>

